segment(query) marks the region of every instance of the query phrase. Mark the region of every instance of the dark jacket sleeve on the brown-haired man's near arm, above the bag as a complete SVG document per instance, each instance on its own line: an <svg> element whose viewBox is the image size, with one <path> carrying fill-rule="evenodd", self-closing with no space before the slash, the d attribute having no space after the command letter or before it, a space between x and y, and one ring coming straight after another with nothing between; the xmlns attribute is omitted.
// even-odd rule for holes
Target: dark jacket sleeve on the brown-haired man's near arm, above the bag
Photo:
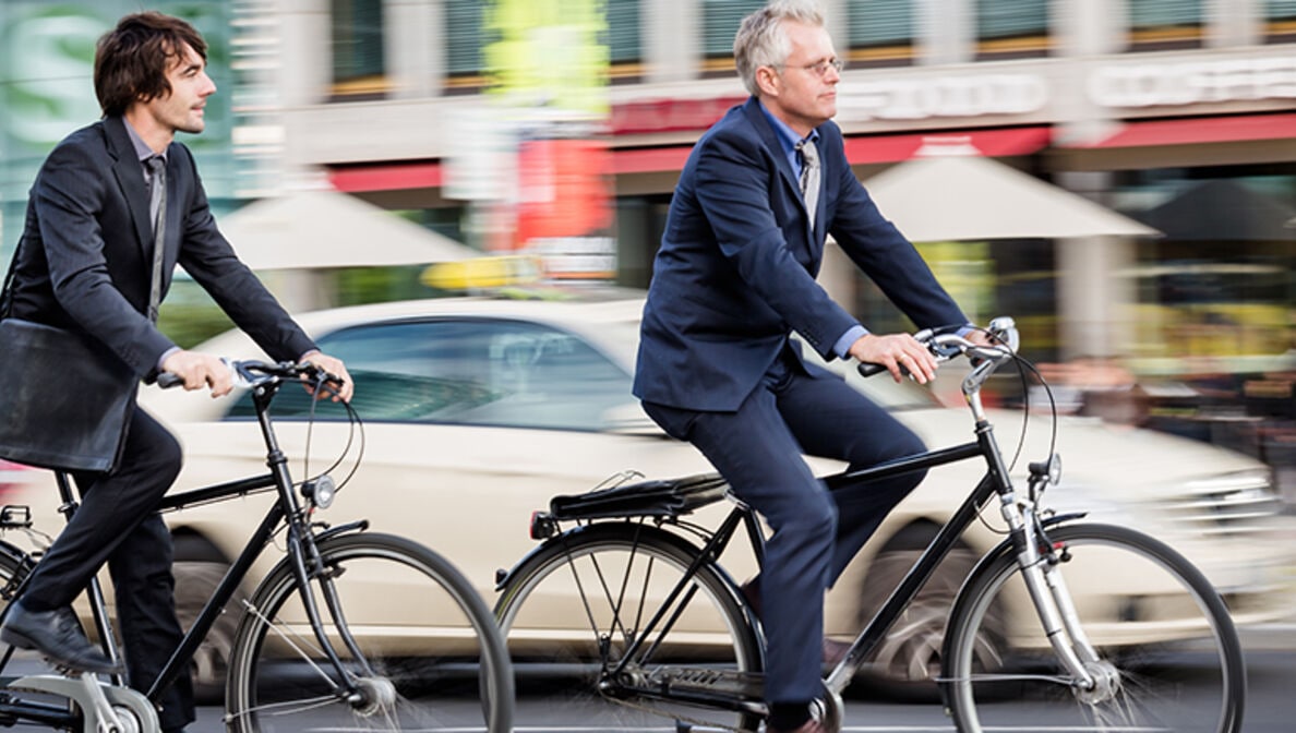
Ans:
<svg viewBox="0 0 1296 733"><path fill-rule="evenodd" d="M32 205L58 304L143 377L175 344L122 295L109 275L100 215L111 176L96 170L96 159L93 150L80 145L57 146L41 167Z"/></svg>

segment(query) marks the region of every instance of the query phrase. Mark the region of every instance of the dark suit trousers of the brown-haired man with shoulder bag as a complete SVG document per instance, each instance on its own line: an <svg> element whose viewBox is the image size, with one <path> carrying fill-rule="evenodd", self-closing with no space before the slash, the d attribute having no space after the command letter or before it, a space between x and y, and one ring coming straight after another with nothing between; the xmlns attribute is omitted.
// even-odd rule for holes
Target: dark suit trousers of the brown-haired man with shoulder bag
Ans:
<svg viewBox="0 0 1296 733"><path fill-rule="evenodd" d="M179 645L171 532L157 514L175 482L180 444L143 409L132 411L122 458L111 473L74 473L80 508L36 565L22 596L32 611L66 606L106 562L130 684L144 693ZM187 673L159 699L163 730L194 720Z"/></svg>

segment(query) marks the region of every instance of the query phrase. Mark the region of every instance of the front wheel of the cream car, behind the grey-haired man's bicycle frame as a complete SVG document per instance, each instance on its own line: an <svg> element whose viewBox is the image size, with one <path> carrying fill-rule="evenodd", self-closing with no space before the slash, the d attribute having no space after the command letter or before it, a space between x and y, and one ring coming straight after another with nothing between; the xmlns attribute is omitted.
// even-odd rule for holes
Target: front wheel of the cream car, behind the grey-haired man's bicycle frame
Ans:
<svg viewBox="0 0 1296 733"><path fill-rule="evenodd" d="M859 627L863 628L892 591L914 566L928 543L936 536L933 526L911 526L899 531L877 553L864 578ZM940 689L936 679L941 673L941 646L950 607L963 580L976 565L976 554L958 544L945 557L918 597L892 624L877 649L861 668L857 681L871 692L892 698L915 702L936 702ZM1001 644L986 640L986 644Z"/></svg>

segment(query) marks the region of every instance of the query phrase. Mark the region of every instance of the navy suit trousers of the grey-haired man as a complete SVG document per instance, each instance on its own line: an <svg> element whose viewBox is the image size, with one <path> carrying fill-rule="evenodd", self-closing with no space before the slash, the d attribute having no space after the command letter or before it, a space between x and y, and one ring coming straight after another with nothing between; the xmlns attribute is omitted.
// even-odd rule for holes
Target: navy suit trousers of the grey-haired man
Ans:
<svg viewBox="0 0 1296 733"><path fill-rule="evenodd" d="M653 403L644 409L667 434L697 447L769 522L772 535L759 584L765 698L771 705L815 699L822 693L823 594L925 474L829 491L801 455L861 469L920 453L921 440L842 379L809 374L791 354L736 412Z"/></svg>

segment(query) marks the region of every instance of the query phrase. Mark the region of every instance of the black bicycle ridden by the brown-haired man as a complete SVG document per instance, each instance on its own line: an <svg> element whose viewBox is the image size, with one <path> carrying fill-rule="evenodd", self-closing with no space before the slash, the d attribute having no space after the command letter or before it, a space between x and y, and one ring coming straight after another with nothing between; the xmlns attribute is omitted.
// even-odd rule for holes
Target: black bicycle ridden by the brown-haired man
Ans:
<svg viewBox="0 0 1296 733"><path fill-rule="evenodd" d="M308 364L235 361L231 366L253 395L270 473L172 493L159 509L268 491L277 500L152 689L141 694L121 677L105 681L89 673L8 676L0 688L0 725L156 732L159 693L192 664L219 616L235 613L241 620L226 670L229 730L511 730L508 654L490 609L468 580L426 547L371 532L364 521L325 524L319 512L329 506L340 483L327 473L299 483L292 478L275 436L271 401L284 385L305 381L319 391L328 389L332 377ZM356 426L350 405L347 412ZM62 510L70 517L76 509L70 480L56 475ZM0 513L3 530L30 527L26 506L5 506ZM244 580L271 545L285 557L244 594ZM39 554L0 541L3 613L22 594L23 580L38 562ZM97 580L88 598L104 653L119 659ZM0 658L0 673L12 675L6 670L13 651L9 648Z"/></svg>

